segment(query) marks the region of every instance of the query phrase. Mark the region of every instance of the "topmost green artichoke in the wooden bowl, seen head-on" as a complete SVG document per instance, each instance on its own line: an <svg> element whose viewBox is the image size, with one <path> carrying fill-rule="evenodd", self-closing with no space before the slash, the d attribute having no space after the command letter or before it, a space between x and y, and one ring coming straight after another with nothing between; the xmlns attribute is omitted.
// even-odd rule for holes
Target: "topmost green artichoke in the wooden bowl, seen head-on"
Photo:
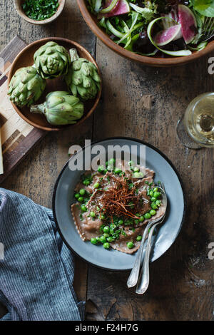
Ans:
<svg viewBox="0 0 214 335"><path fill-rule="evenodd" d="M68 73L71 58L66 48L48 42L34 53L36 70L44 79L53 79Z"/></svg>

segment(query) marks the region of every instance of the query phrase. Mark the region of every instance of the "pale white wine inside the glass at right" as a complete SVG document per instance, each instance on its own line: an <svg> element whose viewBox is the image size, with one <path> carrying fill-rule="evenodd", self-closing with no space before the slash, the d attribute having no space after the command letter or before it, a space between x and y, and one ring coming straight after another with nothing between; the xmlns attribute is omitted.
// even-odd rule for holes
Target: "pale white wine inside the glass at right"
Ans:
<svg viewBox="0 0 214 335"><path fill-rule="evenodd" d="M203 93L193 99L185 111L183 122L196 143L214 148L214 93Z"/></svg>

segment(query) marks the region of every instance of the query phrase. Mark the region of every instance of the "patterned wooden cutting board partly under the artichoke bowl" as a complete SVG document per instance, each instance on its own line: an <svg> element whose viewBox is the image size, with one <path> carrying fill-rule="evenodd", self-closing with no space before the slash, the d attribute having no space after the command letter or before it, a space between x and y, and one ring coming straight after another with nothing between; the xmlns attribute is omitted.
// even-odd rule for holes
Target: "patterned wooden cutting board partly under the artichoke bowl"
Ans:
<svg viewBox="0 0 214 335"><path fill-rule="evenodd" d="M0 168L0 183L25 158L29 150L46 135L46 131L34 128L22 120L7 96L7 77L11 64L25 46L26 43L16 36L0 53L0 145L4 165L3 174Z"/></svg>

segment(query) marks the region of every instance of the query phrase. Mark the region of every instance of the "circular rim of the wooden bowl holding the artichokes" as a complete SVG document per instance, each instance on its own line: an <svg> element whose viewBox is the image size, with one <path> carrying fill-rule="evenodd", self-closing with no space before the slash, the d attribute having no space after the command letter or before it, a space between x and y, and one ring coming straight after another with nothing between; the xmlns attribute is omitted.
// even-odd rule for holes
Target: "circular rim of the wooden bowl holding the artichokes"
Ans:
<svg viewBox="0 0 214 335"><path fill-rule="evenodd" d="M32 46L39 44L41 42L48 42L48 41L63 41L66 43L72 43L73 46L76 46L77 49L80 49L83 53L86 53L86 55L88 56L88 58L90 59L90 61L96 66L96 68L98 69L98 74L101 77L101 71L98 68L98 64L96 63L95 59L93 58L93 56L91 56L91 53L89 53L85 48L83 48L83 46L81 46L80 44L78 44L75 41L71 41L68 38L62 38L62 37L46 37L46 38L41 38L37 41L34 41L32 43L30 43L28 46L26 46L24 49L22 49L20 51L20 53L16 56L16 58L14 59L11 69L9 71L9 76L8 76L8 82L7 82L7 86L9 88L9 83L11 81L12 76L14 76L14 68L16 66L17 61L19 60L19 58L21 57L22 53L24 53L26 50L28 50L29 48L31 48ZM59 130L63 130L64 128L68 128L68 127L75 127L76 125L80 125L81 123L83 123L87 118L89 118L89 116L93 113L93 111L96 109L98 102L101 98L101 91L102 91L102 81L101 81L101 89L98 92L98 95L96 96L96 100L93 104L93 107L91 108L91 110L88 111L88 113L83 116L83 118L81 118L81 120L79 120L77 123L75 123L74 125L61 125L60 128L49 128L49 127L45 127L43 125L38 125L37 123L34 123L33 121L29 120L29 118L26 118L26 116L21 113L21 110L19 110L19 107L17 107L16 105L14 105L14 103L11 102L11 104L13 105L14 109L16 110L16 112L21 116L21 118L23 118L23 120L25 120L27 123L29 123L30 125L33 125L35 128L39 128L42 130L46 130L46 131L59 131Z"/></svg>

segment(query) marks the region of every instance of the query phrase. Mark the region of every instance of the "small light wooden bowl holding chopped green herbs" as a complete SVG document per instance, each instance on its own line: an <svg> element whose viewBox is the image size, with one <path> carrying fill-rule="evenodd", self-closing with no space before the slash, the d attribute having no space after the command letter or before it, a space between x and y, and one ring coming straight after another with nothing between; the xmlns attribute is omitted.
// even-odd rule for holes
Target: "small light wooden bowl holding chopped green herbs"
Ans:
<svg viewBox="0 0 214 335"><path fill-rule="evenodd" d="M14 0L14 6L19 16L21 16L22 19L24 19L25 21L28 21L30 24L43 25L43 24L50 24L51 22L56 20L58 16L60 16L65 6L66 0L58 0L59 6L58 6L56 13L53 16L51 16L49 19L41 20L41 21L33 20L33 19L30 19L28 16L26 16L21 6L23 3L24 3L24 0Z"/></svg>

